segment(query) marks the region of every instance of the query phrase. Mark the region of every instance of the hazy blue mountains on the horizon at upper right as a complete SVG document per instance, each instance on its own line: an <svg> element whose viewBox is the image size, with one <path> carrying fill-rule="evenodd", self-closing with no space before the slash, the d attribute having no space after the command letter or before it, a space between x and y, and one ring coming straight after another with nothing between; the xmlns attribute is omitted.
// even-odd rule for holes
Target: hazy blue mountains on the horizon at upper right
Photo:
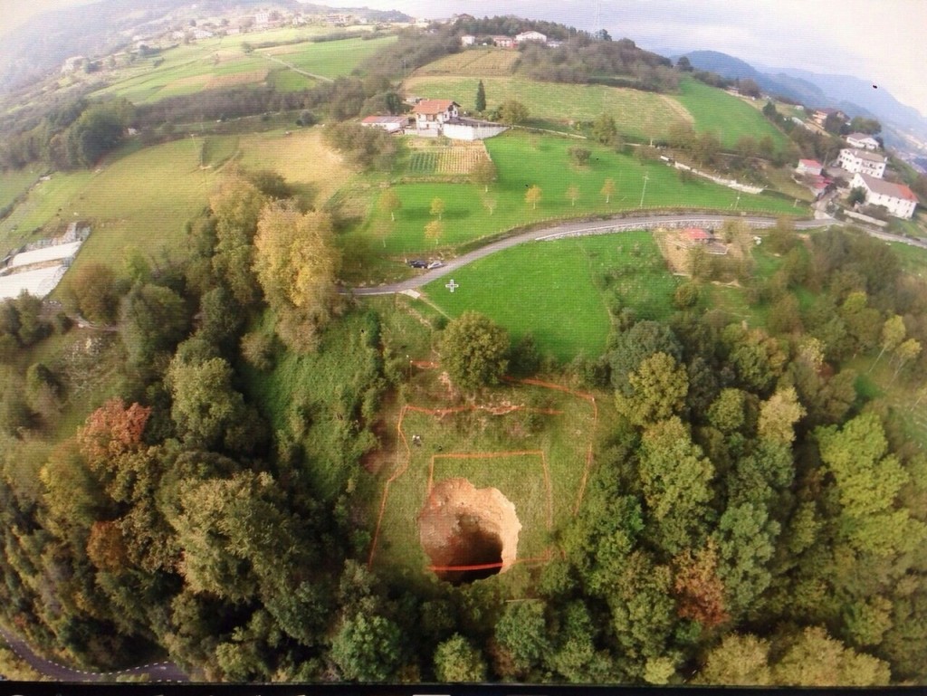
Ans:
<svg viewBox="0 0 927 696"><path fill-rule="evenodd" d="M809 108L840 108L849 116L875 117L883 123L886 144L901 146L902 133L927 138L927 119L899 102L888 90L850 75L822 75L809 70L757 70L740 58L717 51L685 54L698 70L711 70L729 79L750 78L764 92L801 102ZM773 72L776 70L775 72Z"/></svg>

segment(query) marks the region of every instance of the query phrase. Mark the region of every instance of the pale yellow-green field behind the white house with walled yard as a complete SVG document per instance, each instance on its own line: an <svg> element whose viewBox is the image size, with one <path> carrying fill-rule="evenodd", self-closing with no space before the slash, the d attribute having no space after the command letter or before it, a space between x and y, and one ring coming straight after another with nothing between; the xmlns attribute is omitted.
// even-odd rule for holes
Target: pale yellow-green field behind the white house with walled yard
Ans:
<svg viewBox="0 0 927 696"><path fill-rule="evenodd" d="M465 55L465 54L464 54ZM426 70L430 70L426 69ZM464 109L476 108L476 77L413 75L403 83L406 94L454 99ZM691 121L685 108L665 95L600 84L535 82L523 77L486 77L487 108L506 99L524 104L532 120L569 123L610 114L618 132L636 139L663 137L674 123Z"/></svg>

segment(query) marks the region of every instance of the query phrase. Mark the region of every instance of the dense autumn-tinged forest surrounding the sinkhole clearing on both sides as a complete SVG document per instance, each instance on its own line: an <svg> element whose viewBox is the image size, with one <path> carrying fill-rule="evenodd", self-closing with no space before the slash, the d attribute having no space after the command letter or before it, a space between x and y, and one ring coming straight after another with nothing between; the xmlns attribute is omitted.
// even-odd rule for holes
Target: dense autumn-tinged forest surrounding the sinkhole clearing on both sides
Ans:
<svg viewBox="0 0 927 696"><path fill-rule="evenodd" d="M408 375L387 314L334 292L331 219L286 195L237 174L191 222L184 269L72 284L72 309L118 327L95 350L121 367L70 433L57 416L86 365L20 364L69 324L5 303L0 591L35 644L103 667L161 646L194 675L245 680L927 678L927 458L841 367L927 372L923 284L882 244L781 225L786 263L750 291L772 333L681 285L669 321L618 311L603 356L548 374L613 394L617 420L556 530L563 558L509 603L491 582L365 567L362 456ZM804 309L798 285L818 292ZM293 360L316 386L273 397ZM292 399L283 423L274 398Z"/></svg>

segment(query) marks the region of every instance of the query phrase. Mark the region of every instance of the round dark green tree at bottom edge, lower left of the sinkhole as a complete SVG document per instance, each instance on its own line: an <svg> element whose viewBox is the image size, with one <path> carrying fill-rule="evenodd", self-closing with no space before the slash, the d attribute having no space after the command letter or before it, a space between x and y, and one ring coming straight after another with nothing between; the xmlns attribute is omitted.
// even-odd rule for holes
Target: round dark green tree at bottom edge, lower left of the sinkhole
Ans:
<svg viewBox="0 0 927 696"><path fill-rule="evenodd" d="M400 627L384 616L358 613L342 621L332 659L349 681L386 681L400 664Z"/></svg>

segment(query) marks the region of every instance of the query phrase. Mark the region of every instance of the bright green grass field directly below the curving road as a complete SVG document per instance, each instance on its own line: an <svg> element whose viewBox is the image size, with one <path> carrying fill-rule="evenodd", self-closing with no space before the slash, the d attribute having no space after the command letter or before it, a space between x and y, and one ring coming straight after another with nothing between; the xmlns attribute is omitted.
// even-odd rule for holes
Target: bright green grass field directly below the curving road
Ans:
<svg viewBox="0 0 927 696"><path fill-rule="evenodd" d="M630 307L642 319L672 312L676 279L650 233L604 234L532 242L506 249L425 285L448 315L476 310L502 324L513 340L531 333L541 354L569 361L602 355L609 310Z"/></svg>

